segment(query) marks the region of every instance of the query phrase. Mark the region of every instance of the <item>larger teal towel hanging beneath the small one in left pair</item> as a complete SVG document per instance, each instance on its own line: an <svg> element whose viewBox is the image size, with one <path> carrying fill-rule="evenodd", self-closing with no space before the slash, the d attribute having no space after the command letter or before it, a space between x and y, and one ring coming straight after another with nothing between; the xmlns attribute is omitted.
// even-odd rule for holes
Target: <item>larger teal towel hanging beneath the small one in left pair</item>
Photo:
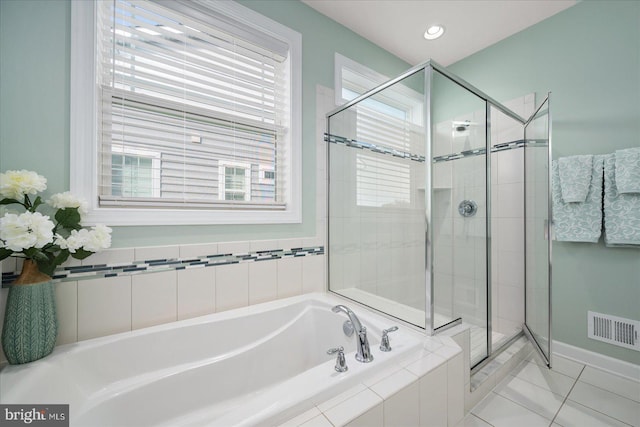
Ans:
<svg viewBox="0 0 640 427"><path fill-rule="evenodd" d="M551 197L555 239L596 243L602 234L602 156L594 156L589 191L582 203L567 203L560 188L559 162L551 163Z"/></svg>

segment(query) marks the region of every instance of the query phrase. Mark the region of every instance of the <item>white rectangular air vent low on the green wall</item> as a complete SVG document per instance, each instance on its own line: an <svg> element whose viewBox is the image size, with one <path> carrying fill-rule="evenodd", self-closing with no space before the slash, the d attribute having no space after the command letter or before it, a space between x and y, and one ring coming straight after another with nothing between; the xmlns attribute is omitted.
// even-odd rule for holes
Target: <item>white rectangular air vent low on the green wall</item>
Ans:
<svg viewBox="0 0 640 427"><path fill-rule="evenodd" d="M640 321L594 311L587 313L589 338L640 351Z"/></svg>

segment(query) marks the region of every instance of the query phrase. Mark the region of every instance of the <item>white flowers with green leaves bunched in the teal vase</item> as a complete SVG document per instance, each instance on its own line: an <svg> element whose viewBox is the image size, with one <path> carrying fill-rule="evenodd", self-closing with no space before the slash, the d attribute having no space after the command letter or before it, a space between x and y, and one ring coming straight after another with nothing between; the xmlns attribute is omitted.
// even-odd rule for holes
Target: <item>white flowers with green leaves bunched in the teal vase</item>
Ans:
<svg viewBox="0 0 640 427"><path fill-rule="evenodd" d="M111 229L96 225L81 226L87 203L70 192L54 194L45 202L39 192L47 189L47 179L36 172L11 170L0 173L0 205L19 205L19 211L7 211L0 218L0 261L9 256L34 261L40 272L53 276L56 267L69 256L84 259L111 246ZM32 200L32 197L36 196ZM52 207L53 219L47 213ZM24 209L24 212L20 212Z"/></svg>

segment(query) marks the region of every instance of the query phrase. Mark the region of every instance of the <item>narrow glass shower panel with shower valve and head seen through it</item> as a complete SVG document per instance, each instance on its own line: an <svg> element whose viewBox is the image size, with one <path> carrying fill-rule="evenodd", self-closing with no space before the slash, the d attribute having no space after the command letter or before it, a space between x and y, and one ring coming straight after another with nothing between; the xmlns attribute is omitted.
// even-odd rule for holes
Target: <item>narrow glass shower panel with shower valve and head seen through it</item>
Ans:
<svg viewBox="0 0 640 427"><path fill-rule="evenodd" d="M486 103L447 77L432 84L434 328L471 328L471 366L488 355Z"/></svg>

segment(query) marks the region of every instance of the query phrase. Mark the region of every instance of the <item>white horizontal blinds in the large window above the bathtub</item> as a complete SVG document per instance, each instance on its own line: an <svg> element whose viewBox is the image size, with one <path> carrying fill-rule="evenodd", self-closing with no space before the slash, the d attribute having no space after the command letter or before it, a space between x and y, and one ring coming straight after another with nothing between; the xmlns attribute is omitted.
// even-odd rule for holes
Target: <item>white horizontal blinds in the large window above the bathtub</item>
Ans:
<svg viewBox="0 0 640 427"><path fill-rule="evenodd" d="M288 46L202 1L97 4L100 205L285 209Z"/></svg>

